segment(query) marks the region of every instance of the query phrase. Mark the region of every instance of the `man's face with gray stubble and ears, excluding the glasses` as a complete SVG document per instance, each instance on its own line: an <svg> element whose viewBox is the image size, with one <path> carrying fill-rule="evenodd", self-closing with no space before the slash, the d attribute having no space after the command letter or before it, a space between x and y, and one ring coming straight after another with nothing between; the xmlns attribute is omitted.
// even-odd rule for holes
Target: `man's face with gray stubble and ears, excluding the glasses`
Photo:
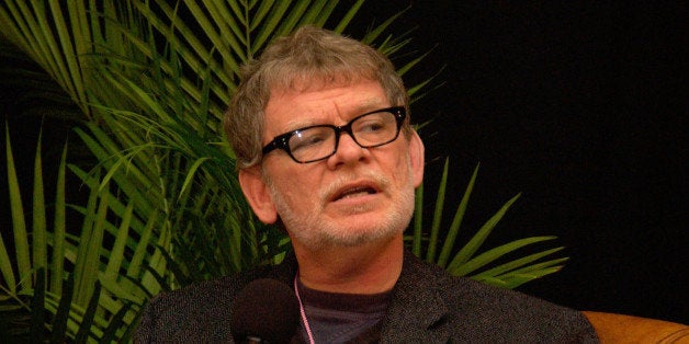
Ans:
<svg viewBox="0 0 689 344"><path fill-rule="evenodd" d="M343 125L392 105L399 104L389 104L373 81L272 92L263 145L283 133ZM259 218L273 222L280 217L295 245L353 246L402 236L422 169L423 147L416 133L368 149L342 134L336 153L325 160L297 163L285 151L274 150L263 158L261 171L242 171L240 181Z"/></svg>

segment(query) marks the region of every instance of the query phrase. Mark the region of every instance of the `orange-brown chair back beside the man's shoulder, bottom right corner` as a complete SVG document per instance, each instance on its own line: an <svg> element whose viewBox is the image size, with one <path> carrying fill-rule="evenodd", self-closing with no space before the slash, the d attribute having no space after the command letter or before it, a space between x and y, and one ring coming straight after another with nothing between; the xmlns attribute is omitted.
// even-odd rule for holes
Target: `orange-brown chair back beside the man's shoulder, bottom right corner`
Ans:
<svg viewBox="0 0 689 344"><path fill-rule="evenodd" d="M689 326L676 322L584 311L601 343L689 343Z"/></svg>

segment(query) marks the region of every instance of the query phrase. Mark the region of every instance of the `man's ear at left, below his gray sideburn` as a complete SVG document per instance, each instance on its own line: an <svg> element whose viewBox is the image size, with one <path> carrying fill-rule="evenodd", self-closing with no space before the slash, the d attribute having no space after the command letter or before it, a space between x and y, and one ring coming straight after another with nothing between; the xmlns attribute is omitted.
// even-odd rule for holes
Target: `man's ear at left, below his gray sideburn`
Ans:
<svg viewBox="0 0 689 344"><path fill-rule="evenodd" d="M239 170L239 185L251 209L263 223L274 223L278 211L259 167Z"/></svg>

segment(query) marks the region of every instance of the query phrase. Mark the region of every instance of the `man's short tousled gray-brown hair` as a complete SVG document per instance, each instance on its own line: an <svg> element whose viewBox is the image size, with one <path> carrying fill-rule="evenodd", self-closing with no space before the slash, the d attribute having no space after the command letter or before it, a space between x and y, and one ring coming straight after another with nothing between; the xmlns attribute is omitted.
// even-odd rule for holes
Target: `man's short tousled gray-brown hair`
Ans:
<svg viewBox="0 0 689 344"><path fill-rule="evenodd" d="M359 41L314 26L275 39L258 59L241 68L240 77L224 118L239 169L261 161L264 108L271 91L373 80L381 84L391 105L404 105L409 111L407 91L387 57ZM407 119L404 131L408 135L410 130Z"/></svg>

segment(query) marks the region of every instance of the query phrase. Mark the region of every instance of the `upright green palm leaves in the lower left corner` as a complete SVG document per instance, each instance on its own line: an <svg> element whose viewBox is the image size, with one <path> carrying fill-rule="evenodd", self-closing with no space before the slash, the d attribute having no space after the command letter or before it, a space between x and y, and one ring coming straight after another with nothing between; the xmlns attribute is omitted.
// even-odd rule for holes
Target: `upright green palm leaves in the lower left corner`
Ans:
<svg viewBox="0 0 689 344"><path fill-rule="evenodd" d="M24 323L21 317L14 318L16 333L13 334L20 335L29 326L31 342L43 341L46 330L52 333L52 342L64 341L66 336L83 342L89 335L104 341L126 339L128 333L123 324L135 321L140 305L150 297L151 290L159 288L154 277L165 272L161 260L147 257L149 250L156 251L154 256L160 256L155 245L163 244L161 241L169 238L169 233L160 233L154 239L151 233L159 218L149 219L140 231L142 237L131 243L131 254L125 254L127 241L132 239L129 233L134 231L133 204L121 204L116 195L108 188L100 190L92 181L86 207L68 205L67 146L57 168L55 199L46 202L38 142L31 211L27 213L31 221L27 221L9 129L5 156L14 256L10 257L0 237L0 276L4 282L0 284L0 311L10 314L31 310ZM76 217L67 216L70 208L83 215L78 223L71 222ZM48 225L49 218L53 221ZM114 227L116 222L118 226ZM80 231L75 234L69 229Z"/></svg>

